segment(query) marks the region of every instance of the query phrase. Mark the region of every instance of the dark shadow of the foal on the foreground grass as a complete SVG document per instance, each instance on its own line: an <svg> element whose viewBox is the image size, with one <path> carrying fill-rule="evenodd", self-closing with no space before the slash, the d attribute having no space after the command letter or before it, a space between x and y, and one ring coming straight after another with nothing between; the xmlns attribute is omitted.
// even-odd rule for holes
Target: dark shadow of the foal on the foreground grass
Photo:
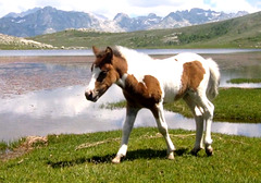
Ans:
<svg viewBox="0 0 261 183"><path fill-rule="evenodd" d="M175 150L175 156L190 155L190 151L187 148L181 148ZM99 164L99 163L111 163L111 160L115 157L115 154L105 155L105 156L94 156L91 158L77 158L66 161L48 161L47 164L51 168L64 168L73 167L86 162ZM164 159L166 158L166 150L154 150L154 149L138 149L129 150L126 158L123 158L122 161L134 161L137 159Z"/></svg>

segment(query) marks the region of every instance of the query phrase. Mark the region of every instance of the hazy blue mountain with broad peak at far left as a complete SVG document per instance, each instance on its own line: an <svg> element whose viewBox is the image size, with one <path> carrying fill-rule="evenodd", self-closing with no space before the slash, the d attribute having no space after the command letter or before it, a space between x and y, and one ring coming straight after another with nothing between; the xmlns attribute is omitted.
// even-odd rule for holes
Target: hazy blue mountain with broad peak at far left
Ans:
<svg viewBox="0 0 261 183"><path fill-rule="evenodd" d="M88 13L66 12L46 7L25 16L4 16L0 20L0 33L18 37L60 32L66 28L88 28L100 21Z"/></svg>

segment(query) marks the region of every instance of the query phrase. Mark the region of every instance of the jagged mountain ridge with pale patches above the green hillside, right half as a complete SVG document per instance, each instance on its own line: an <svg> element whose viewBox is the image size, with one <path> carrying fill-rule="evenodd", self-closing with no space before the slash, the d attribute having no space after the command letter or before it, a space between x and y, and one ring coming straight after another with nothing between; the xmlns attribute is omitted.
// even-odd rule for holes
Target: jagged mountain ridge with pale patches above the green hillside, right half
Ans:
<svg viewBox="0 0 261 183"><path fill-rule="evenodd" d="M129 17L125 13L117 13L113 21L125 32L134 32L191 26L210 22L219 22L247 14L248 12L245 11L227 14L211 10L191 9L190 11L171 12L165 17L157 16L154 13L150 13L148 16L138 17Z"/></svg>

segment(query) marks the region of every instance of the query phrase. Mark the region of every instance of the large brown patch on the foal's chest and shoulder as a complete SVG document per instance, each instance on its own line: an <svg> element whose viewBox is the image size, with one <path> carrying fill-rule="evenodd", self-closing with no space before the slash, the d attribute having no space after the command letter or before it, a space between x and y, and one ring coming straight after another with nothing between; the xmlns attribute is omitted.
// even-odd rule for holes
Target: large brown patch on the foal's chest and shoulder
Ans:
<svg viewBox="0 0 261 183"><path fill-rule="evenodd" d="M162 90L159 81L145 75L142 82L138 82L134 75L128 75L123 94L129 107L153 109L160 102Z"/></svg>

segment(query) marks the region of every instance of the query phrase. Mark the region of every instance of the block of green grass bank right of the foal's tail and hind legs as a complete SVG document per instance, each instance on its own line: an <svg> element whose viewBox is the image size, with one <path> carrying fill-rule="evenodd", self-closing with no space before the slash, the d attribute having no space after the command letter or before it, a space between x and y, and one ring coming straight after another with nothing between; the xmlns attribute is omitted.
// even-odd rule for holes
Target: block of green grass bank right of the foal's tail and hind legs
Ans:
<svg viewBox="0 0 261 183"><path fill-rule="evenodd" d="M261 89L221 89L214 100L215 119L243 122L261 122Z"/></svg>

